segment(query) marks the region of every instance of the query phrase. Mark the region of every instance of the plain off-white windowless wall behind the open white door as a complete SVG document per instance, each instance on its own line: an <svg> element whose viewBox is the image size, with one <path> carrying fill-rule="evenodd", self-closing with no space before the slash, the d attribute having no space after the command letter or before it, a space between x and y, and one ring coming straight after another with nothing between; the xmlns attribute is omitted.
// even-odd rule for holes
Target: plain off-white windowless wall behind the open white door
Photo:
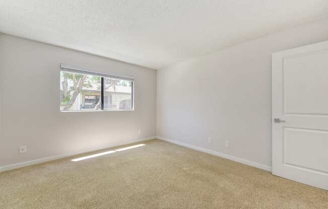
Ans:
<svg viewBox="0 0 328 209"><path fill-rule="evenodd" d="M322 19L158 70L157 136L271 166L271 53L328 40L327 26Z"/></svg>

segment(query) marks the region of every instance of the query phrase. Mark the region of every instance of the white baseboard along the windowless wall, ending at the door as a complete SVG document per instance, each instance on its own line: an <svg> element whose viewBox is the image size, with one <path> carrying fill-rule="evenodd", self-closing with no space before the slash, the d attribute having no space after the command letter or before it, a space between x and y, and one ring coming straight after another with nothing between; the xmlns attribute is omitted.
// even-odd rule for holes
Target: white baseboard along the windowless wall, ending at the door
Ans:
<svg viewBox="0 0 328 209"><path fill-rule="evenodd" d="M267 171L271 172L271 166L268 166L268 165L262 165L260 163L252 162L252 161L249 161L249 160L241 159L241 158L238 158L238 157L234 157L234 156L223 154L223 153L216 152L216 151L213 151L213 150L197 147L197 146L194 146L194 145L186 144L186 143L175 141L175 140L172 140L172 139L167 139L167 138L163 138L163 137L159 137L159 136L156 136L156 139L171 142L173 144L181 145L181 146L188 147L188 148L198 150L198 151L201 151L201 152L206 152L206 153L209 153L209 154L212 154L212 155L223 157L223 158L226 158L226 159L229 159L229 160L233 160L233 161L236 161L236 162L239 162L239 163L242 163L242 164L250 165L250 166L260 168L260 169L267 170Z"/></svg>

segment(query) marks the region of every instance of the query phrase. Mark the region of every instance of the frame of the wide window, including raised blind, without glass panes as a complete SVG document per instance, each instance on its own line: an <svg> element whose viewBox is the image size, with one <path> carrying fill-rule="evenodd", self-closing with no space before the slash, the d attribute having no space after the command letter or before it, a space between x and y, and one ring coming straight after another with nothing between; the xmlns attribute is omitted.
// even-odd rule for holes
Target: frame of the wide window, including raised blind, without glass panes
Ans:
<svg viewBox="0 0 328 209"><path fill-rule="evenodd" d="M88 68L82 68L72 65L66 65L66 64L60 64L60 73L61 72L70 72L70 73L79 73L79 74L85 74L85 75L93 75L93 76L99 76L101 77L101 109L100 110L71 110L71 111L63 111L60 110L61 101L59 99L59 111L63 113L71 113L71 112L103 112L103 111L134 111L134 88L135 88L135 78L132 75L122 75L122 74L116 74L116 73L99 73L94 70L88 69ZM104 80L105 78L112 78L112 79L120 79L131 82L131 109L129 110L107 110L104 109ZM59 87L59 95L60 95L60 88Z"/></svg>

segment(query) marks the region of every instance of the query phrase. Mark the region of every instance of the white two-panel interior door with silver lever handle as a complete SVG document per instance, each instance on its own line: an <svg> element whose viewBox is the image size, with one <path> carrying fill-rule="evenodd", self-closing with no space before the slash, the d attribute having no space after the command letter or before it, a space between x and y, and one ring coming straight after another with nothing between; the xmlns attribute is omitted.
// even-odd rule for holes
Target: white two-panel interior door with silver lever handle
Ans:
<svg viewBox="0 0 328 209"><path fill-rule="evenodd" d="M272 173L328 190L328 41L272 54Z"/></svg>

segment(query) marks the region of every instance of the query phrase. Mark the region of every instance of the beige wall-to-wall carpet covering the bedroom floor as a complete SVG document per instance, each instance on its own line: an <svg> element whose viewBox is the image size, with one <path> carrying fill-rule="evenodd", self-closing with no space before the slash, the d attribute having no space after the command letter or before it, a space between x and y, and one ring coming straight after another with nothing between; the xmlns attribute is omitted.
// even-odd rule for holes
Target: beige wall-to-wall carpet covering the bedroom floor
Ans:
<svg viewBox="0 0 328 209"><path fill-rule="evenodd" d="M2 172L0 208L328 208L328 191L168 142L144 144Z"/></svg>

